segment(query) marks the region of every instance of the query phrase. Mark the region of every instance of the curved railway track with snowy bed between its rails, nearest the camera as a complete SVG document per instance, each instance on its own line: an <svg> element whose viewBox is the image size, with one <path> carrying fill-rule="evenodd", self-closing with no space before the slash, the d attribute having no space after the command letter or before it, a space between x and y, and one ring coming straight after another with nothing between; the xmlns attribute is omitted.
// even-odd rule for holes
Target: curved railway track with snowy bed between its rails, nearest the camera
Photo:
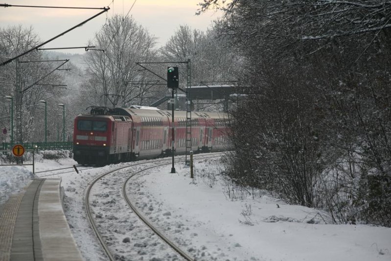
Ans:
<svg viewBox="0 0 391 261"><path fill-rule="evenodd" d="M211 158L211 157L219 157L221 153L209 153L208 155L195 155L195 159L203 159L203 158ZM177 158L178 161L183 161L181 158ZM153 166L151 166L151 164ZM172 257L173 260L177 260L179 255L182 259L187 260L187 261L192 261L193 258L189 256L186 251L181 249L180 246L178 246L176 243L174 243L170 238L166 237L163 233L160 232L158 228L156 228L151 222L149 222L148 218L144 216L141 212L138 211L138 209L135 207L135 204L132 202L132 200L129 199L127 193L126 193L126 186L130 182L130 180L135 177L136 175L155 168L155 167L160 167L163 165L170 165L171 164L171 158L166 158L166 159L160 159L156 160L153 163L151 161L145 163L132 163L128 164L126 166L120 166L116 167L115 169L112 169L108 172L105 172L99 176L97 176L89 185L89 187L86 190L85 194L85 209L87 212L88 219L90 221L90 224L92 226L92 230L95 233L96 237L98 238L99 243L101 244L101 247L105 254L107 255L108 259L111 261L118 260L118 259L123 259L124 256L121 257L121 253L114 253L113 254L113 247L110 247L111 245L115 245L116 243L120 242L113 242L113 238L106 233L106 231L100 231L101 224L105 222L112 222L111 219L118 219L116 220L118 223L131 223L132 230L137 230L137 231L144 231L143 234L145 233L150 233L150 237L156 237L156 240L153 244L160 245L161 246L161 240L167 245L163 249L163 252L165 253L165 259L168 259L168 257ZM147 165L147 166L145 166ZM131 170L126 170L128 168L132 168ZM121 186L119 185L114 185L114 184L122 184ZM109 188L111 192L103 192L102 188L106 187ZM114 188L115 187L115 188ZM121 187L121 188L120 188ZM121 194L119 194L121 193ZM93 194L95 196L93 196ZM98 195L98 197L96 196ZM116 199L118 197L122 197L124 200L122 202L117 202ZM109 202L109 203L107 203ZM96 207L98 204L106 204L106 205L111 205L111 203L115 202L113 205L118 205L120 204L121 206L119 209L121 209L122 214L125 214L126 218L121 218L121 217L108 217L109 221L104 221L102 220L104 213L97 213L97 211L94 211L93 208L94 206ZM118 208L118 206L116 206ZM140 223L140 220L142 223ZM133 229L133 226L135 229ZM141 227L142 226L142 227ZM123 229L126 226L123 226ZM145 232L148 230L148 232ZM115 232L117 229L115 229ZM135 233L136 234L136 233ZM135 237L137 238L137 237ZM134 241L137 241L137 239L134 239ZM140 238L139 240L142 241L143 238ZM130 239L129 239L130 240ZM118 240L117 240L118 241ZM159 242L158 242L159 241ZM139 242L136 242L135 244L138 244ZM115 247L114 247L115 248ZM160 247L160 250L162 247ZM174 252L175 251L175 252ZM137 251L133 251L137 252ZM174 253L174 254L173 254ZM141 255L146 255L146 253L134 253L134 254L141 254ZM152 257L151 257L152 258Z"/></svg>

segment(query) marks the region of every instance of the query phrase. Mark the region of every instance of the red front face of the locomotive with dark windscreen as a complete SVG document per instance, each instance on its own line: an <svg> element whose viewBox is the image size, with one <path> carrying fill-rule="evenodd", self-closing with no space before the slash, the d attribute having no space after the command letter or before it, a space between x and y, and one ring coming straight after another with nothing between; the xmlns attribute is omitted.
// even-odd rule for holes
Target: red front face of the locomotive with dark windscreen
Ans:
<svg viewBox="0 0 391 261"><path fill-rule="evenodd" d="M109 160L112 116L79 115L73 129L73 159L78 164L105 165Z"/></svg>

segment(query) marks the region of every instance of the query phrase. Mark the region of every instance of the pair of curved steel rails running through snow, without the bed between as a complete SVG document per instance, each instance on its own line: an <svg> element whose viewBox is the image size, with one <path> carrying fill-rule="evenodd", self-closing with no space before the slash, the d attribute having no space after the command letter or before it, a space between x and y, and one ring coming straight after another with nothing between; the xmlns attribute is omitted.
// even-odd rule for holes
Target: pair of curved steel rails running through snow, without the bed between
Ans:
<svg viewBox="0 0 391 261"><path fill-rule="evenodd" d="M208 153L208 155L204 155L204 154L200 154L200 155L194 155L194 158L211 158L211 156L215 156L215 157L219 157L222 153L221 152L217 152L217 153ZM177 161L181 161L182 159L179 158L177 159ZM130 208L130 210L133 211L134 214L136 214L138 216L138 218L146 225L149 227L149 229L151 231L153 231L153 233L155 235L157 235L159 238L161 238L161 240L163 240L166 244L168 244L173 250L175 250L176 253L178 253L182 258L184 258L184 260L187 260L187 261L193 261L194 259L192 257L190 257L184 250L182 250L177 244L175 244L172 240L170 240L168 237L164 236L152 223L150 223L148 221L148 219L138 211L138 209L135 207L135 205L131 202L131 200L128 198L127 196L127 193L126 193L126 186L128 184L128 182L132 179L132 177L136 176L137 174L140 174L148 169L151 169L151 168L154 168L154 167L159 167L159 166L163 166L163 165L170 165L171 164L171 158L166 158L166 159L160 159L160 160L155 160L153 162L154 166L150 166L152 163L151 161L145 163L133 163L133 164L130 164L130 165L126 165L126 166L120 166L120 167L117 167L113 170L110 170L108 172L105 172L101 175L99 175L98 177L96 177L92 183L89 185L87 191L86 191L86 195L85 195L85 200L84 200L84 205L85 205L85 209L86 209L86 212L87 212L87 216L88 216L88 219L90 221L90 224L92 226L92 230L93 232L95 233L96 237L98 238L98 241L99 243L101 244L101 247L103 249L103 251L105 252L105 254L107 255L108 259L110 261L115 261L117 260L117 257L113 256L113 253L110 251L109 249L109 246L108 244L106 243L104 237L102 236L102 234L99 232L98 230L98 227L96 225L96 222L94 221L94 218L93 218L93 212L92 212L92 209L91 209L91 204L90 204L90 200L91 200L91 192L92 192L92 188L93 186L100 180L102 180L104 177L107 177L109 174L113 174L115 172L118 172L119 170L122 170L124 168L129 168L129 167L136 167L136 166L142 166L142 165L145 165L145 164L148 164L149 166L148 167L144 167L138 171L135 171L133 173L128 173L129 176L127 176L123 182L122 182L122 190L121 190L121 193L122 193L122 197L123 199L125 200L126 202L126 205ZM155 165L156 164L156 165Z"/></svg>

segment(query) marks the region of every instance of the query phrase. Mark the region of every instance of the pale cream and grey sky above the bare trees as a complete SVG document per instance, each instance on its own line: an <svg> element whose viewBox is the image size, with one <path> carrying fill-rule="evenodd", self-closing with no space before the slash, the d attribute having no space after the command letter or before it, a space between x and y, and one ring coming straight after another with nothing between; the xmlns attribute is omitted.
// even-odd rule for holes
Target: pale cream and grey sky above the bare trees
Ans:
<svg viewBox="0 0 391 261"><path fill-rule="evenodd" d="M92 19L83 26L75 28L69 33L48 43L45 47L81 47L86 46L88 40L94 37L106 22L107 17L114 14L126 15L135 0L5 0L1 3L11 5L37 5L37 6L72 6L72 7L110 7L110 10ZM208 11L196 16L198 3L202 0L136 0L129 13L138 24L146 28L150 34L158 37L158 46L174 34L175 30L183 24L193 29L206 31L213 20L221 13ZM102 10L79 9L53 9L30 7L1 7L0 27L23 24L33 26L34 31L45 42L54 36L68 30ZM71 53L83 53L83 49L58 50Z"/></svg>

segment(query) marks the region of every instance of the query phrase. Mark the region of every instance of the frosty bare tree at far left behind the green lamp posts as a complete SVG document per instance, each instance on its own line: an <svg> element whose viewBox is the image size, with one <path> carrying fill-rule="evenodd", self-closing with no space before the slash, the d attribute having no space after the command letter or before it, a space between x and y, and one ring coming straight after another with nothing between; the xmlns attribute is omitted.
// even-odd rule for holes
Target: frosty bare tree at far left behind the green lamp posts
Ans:
<svg viewBox="0 0 391 261"><path fill-rule="evenodd" d="M0 57L13 57L25 50L31 49L39 44L40 39L32 27L23 28L21 25L0 29ZM39 103L40 100L46 100L47 105L47 129L48 141L55 141L56 137L50 135L54 133L54 125L51 125L51 119L56 119L50 111L57 107L58 99L64 95L61 89L54 88L52 85L63 84L63 78L58 73L50 73L58 66L58 62L39 62L45 60L42 52L30 52L20 57L14 63L3 66L0 71L0 88L4 95L11 95L16 105L17 77L22 92L22 137L23 141L43 142L45 137L44 110ZM34 61L32 63L24 63ZM16 65L18 64L18 75ZM51 85L52 84L52 85ZM5 104L4 104L5 105ZM7 107L5 105L5 107ZM16 110L14 119L16 119ZM14 124L14 128L15 128ZM16 131L14 130L14 133ZM15 138L14 138L15 140Z"/></svg>

